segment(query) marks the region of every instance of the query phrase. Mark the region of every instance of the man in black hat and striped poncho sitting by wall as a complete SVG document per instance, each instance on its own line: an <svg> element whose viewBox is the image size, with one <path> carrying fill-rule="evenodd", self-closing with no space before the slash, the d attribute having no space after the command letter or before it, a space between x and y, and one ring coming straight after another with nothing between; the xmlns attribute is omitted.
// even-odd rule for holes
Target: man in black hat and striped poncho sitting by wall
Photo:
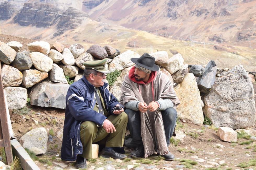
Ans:
<svg viewBox="0 0 256 170"><path fill-rule="evenodd" d="M127 108L127 127L137 145L131 156L146 158L157 152L167 161L173 160L168 145L175 128L179 99L171 81L154 64L154 57L145 53L131 61L135 66L124 78L120 99Z"/></svg>

